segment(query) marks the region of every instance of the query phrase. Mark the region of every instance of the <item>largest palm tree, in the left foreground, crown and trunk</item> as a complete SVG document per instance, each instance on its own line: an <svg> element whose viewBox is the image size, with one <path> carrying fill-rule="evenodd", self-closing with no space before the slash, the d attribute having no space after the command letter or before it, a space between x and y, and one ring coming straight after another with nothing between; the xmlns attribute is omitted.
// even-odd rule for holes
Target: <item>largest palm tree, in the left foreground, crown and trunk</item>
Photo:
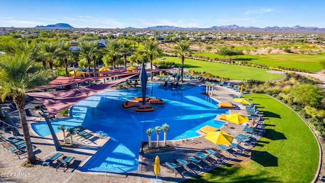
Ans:
<svg viewBox="0 0 325 183"><path fill-rule="evenodd" d="M53 73L49 71L34 72L33 66L36 64L31 59L31 52L26 50L16 50L15 54L3 54L0 56L0 94L2 101L7 97L12 97L15 102L20 117L20 123L24 135L27 150L27 161L36 163L36 156L32 150L26 115L24 112L26 90L47 84L52 80ZM34 72L34 73L33 73Z"/></svg>

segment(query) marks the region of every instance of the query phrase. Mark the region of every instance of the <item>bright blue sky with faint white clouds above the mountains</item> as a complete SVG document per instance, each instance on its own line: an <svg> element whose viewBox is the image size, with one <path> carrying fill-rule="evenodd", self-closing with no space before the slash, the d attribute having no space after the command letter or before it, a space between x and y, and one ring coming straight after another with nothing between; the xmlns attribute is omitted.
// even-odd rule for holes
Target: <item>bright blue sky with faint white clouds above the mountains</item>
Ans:
<svg viewBox="0 0 325 183"><path fill-rule="evenodd" d="M316 26L325 28L325 1L153 0L6 1L0 0L0 27L69 23L73 27L144 28Z"/></svg>

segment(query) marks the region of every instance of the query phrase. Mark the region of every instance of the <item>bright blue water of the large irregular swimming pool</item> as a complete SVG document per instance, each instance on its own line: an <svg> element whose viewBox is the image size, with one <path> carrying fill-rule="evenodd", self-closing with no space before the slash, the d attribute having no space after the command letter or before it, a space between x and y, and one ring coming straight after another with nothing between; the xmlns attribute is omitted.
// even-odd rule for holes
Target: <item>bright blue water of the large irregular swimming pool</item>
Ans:
<svg viewBox="0 0 325 183"><path fill-rule="evenodd" d="M209 125L220 128L223 123L214 120L217 114L227 113L226 109L218 109L217 101L201 95L205 87L196 86L184 91L158 88L157 83L148 83L147 96L157 97L165 101L154 112L138 113L124 110L121 106L126 100L141 95L140 88L118 89L103 92L89 97L71 109L71 118L51 121L55 132L57 127L82 126L93 132L103 131L110 136L108 141L82 168L81 171L125 172L138 170L138 158L141 141L148 141L145 131L148 128L170 125L168 140L178 140L199 136L196 131ZM32 128L40 136L50 135L45 122L32 124ZM153 141L156 134L151 135ZM164 140L161 132L159 140Z"/></svg>

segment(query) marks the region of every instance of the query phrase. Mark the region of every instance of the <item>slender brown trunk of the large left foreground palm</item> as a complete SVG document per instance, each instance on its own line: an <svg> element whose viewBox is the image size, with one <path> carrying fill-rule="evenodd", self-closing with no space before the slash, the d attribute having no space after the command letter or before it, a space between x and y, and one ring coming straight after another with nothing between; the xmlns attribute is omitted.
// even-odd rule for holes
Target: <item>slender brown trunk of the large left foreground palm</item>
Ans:
<svg viewBox="0 0 325 183"><path fill-rule="evenodd" d="M25 99L23 96L18 96L18 97L14 98L14 102L18 108L22 132L24 134L24 140L25 140L26 149L27 149L27 160L29 163L35 164L37 160L36 160L34 151L32 151L32 145L31 145L31 141L30 141L30 135L29 135L27 121L26 121L26 115L24 112Z"/></svg>

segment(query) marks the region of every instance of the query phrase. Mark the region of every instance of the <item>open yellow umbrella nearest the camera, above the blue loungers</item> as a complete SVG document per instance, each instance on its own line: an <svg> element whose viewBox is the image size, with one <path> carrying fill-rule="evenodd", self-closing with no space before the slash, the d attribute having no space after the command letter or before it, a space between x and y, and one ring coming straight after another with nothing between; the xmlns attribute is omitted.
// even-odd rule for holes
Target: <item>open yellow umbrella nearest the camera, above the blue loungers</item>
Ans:
<svg viewBox="0 0 325 183"><path fill-rule="evenodd" d="M232 144L234 137L223 130L208 132L204 137L214 144Z"/></svg>

